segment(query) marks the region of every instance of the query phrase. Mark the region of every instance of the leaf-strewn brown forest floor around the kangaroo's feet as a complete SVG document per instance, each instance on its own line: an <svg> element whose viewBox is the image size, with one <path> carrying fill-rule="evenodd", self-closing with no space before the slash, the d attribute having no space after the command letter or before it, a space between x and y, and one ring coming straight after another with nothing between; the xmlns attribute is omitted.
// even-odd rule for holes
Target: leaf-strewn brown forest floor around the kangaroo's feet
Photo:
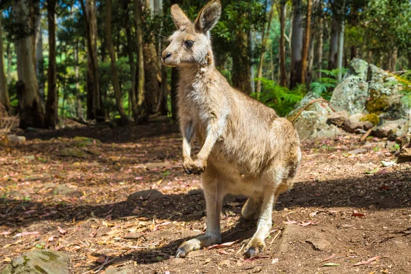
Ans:
<svg viewBox="0 0 411 274"><path fill-rule="evenodd" d="M0 269L23 252L56 249L72 256L71 273L410 273L411 166L382 165L395 160L386 140L303 142L268 249L245 260L256 222L242 220L243 197L223 206L223 242L234 244L174 258L206 218L175 125L73 124L25 136L0 147Z"/></svg>

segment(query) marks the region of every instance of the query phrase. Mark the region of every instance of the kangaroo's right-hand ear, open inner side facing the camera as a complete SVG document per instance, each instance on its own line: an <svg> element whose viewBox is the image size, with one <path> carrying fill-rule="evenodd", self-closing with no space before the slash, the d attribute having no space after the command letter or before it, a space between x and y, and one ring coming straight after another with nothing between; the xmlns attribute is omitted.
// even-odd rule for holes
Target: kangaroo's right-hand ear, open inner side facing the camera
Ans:
<svg viewBox="0 0 411 274"><path fill-rule="evenodd" d="M198 32L206 34L216 23L221 16L221 2L220 0L212 0L208 2L199 12L195 19L195 28Z"/></svg>

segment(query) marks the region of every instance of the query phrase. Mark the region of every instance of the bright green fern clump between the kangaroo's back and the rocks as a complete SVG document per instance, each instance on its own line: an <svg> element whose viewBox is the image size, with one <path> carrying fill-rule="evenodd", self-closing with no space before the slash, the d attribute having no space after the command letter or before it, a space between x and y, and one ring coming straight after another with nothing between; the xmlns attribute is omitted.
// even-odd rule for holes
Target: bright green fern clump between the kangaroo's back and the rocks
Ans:
<svg viewBox="0 0 411 274"><path fill-rule="evenodd" d="M260 96L257 92L251 93L251 97L259 99L262 103L273 108L279 116L286 116L296 103L303 99L307 90L304 85L299 85L293 90L289 90L285 86L280 86L276 82L266 78L260 79L262 83L262 92Z"/></svg>

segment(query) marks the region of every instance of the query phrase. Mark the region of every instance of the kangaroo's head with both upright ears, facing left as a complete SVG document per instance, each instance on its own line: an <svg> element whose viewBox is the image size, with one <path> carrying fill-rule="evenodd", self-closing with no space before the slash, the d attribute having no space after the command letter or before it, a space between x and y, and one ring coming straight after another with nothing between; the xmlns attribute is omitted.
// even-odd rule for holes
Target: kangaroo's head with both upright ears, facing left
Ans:
<svg viewBox="0 0 411 274"><path fill-rule="evenodd" d="M173 5L171 17L177 30L169 38L169 47L162 52L162 63L167 66L212 64L210 29L219 21L220 15L220 0L205 5L194 23L178 5Z"/></svg>

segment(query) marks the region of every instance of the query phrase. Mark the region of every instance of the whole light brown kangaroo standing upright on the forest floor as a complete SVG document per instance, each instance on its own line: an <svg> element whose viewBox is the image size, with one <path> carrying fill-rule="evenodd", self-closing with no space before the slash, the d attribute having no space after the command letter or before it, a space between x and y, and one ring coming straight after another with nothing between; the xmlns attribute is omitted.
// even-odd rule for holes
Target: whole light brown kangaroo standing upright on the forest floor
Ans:
<svg viewBox="0 0 411 274"><path fill-rule="evenodd" d="M162 52L162 63L179 69L177 107L183 143L183 168L201 174L206 197L206 234L184 242L177 258L221 243L220 213L230 193L248 197L242 216L258 218L245 257L264 251L272 227L273 203L292 187L301 160L299 136L287 119L263 103L229 86L214 65L210 29L221 16L221 2L212 0L194 23L178 5L171 7L177 30ZM202 147L191 158L194 137Z"/></svg>

